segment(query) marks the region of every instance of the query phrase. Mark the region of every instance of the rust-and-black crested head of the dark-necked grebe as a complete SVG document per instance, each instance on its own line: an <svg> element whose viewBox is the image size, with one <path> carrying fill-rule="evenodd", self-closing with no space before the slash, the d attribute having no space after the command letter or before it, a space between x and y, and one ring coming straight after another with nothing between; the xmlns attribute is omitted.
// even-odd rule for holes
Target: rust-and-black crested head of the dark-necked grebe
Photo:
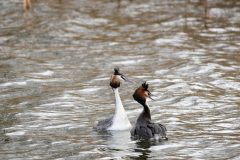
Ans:
<svg viewBox="0 0 240 160"><path fill-rule="evenodd" d="M148 90L148 84L144 82L133 94L133 98L138 103L145 105L147 98L152 99L151 92Z"/></svg>

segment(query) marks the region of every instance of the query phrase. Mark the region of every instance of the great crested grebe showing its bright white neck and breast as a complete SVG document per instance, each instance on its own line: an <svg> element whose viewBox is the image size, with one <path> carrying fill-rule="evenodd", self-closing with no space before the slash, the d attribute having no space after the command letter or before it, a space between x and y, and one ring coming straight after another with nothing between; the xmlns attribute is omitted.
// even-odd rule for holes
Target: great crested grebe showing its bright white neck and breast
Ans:
<svg viewBox="0 0 240 160"><path fill-rule="evenodd" d="M110 86L115 95L115 113L113 116L100 120L94 127L97 130L127 130L132 127L128 120L125 109L123 108L118 88L120 87L121 80L128 81L126 77L119 72L118 68L114 68L114 73L110 79Z"/></svg>

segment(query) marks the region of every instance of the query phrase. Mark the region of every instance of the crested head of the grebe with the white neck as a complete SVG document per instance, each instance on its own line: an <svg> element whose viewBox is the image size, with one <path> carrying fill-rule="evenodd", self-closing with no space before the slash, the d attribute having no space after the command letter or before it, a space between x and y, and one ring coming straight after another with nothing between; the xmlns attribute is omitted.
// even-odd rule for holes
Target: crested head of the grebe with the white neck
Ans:
<svg viewBox="0 0 240 160"><path fill-rule="evenodd" d="M112 88L120 87L121 80L127 81L127 78L119 72L119 68L114 68L114 73L110 80L110 86Z"/></svg>

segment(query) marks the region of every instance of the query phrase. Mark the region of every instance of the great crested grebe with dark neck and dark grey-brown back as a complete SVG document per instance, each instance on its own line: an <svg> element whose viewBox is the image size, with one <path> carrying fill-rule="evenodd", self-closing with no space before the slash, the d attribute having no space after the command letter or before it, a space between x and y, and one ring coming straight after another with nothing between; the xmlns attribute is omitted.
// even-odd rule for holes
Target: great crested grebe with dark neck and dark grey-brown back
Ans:
<svg viewBox="0 0 240 160"><path fill-rule="evenodd" d="M133 98L143 106L143 111L139 115L135 126L131 129L131 136L140 139L158 137L167 140L166 127L162 124L151 122L151 113L146 102L147 98L151 98L151 93L148 90L148 84L146 82L136 89Z"/></svg>

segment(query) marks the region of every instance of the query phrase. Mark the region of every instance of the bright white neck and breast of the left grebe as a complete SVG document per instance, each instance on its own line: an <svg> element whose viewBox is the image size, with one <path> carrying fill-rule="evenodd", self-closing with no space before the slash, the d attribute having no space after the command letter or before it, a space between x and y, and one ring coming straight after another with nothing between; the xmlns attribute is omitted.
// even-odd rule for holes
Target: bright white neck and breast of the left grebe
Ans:
<svg viewBox="0 0 240 160"><path fill-rule="evenodd" d="M125 109L123 108L122 101L118 92L118 88L113 89L115 95L115 114L113 116L113 124L109 130L127 130L131 128Z"/></svg>

